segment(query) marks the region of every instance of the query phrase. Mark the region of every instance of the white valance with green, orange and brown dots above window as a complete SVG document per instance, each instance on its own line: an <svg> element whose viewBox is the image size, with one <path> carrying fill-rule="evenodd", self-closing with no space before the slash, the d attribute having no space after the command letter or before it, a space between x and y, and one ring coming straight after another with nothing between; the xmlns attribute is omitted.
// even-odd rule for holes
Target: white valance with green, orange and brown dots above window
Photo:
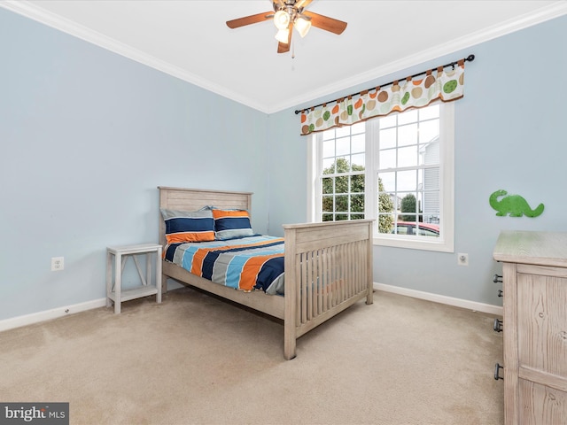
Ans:
<svg viewBox="0 0 567 425"><path fill-rule="evenodd" d="M464 59L445 70L443 66L427 71L422 80L393 81L392 86L377 87L358 95L338 99L334 104L322 104L311 110L301 111L301 135L324 131L333 127L350 126L370 118L382 117L392 112L423 108L431 102L451 102L463 96Z"/></svg>

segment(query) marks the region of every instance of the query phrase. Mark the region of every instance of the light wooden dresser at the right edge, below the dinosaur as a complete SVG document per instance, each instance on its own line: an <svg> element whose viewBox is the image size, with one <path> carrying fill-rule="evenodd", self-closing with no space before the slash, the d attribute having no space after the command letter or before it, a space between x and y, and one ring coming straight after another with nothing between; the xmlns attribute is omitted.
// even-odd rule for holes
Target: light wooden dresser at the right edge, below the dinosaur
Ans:
<svg viewBox="0 0 567 425"><path fill-rule="evenodd" d="M506 425L567 423L567 233L503 231Z"/></svg>

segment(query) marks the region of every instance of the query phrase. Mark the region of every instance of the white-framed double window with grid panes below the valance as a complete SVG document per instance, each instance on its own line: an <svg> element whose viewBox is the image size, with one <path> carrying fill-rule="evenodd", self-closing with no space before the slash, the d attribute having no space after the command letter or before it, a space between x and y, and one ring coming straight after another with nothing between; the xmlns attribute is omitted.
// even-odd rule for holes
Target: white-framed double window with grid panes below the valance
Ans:
<svg viewBox="0 0 567 425"><path fill-rule="evenodd" d="M453 251L454 105L312 135L313 220L376 220L374 242Z"/></svg>

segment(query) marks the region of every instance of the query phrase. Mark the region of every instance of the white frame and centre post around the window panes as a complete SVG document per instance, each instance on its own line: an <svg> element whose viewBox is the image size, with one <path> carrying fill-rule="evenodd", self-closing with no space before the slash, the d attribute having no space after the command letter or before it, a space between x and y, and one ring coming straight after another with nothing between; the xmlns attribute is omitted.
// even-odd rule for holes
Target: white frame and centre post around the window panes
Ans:
<svg viewBox="0 0 567 425"><path fill-rule="evenodd" d="M454 252L454 103L439 104L439 140L440 140L440 217L441 234L431 236L404 236L379 234L374 226L373 243L425 251ZM377 221L377 143L371 143L377 137L378 120L366 122L366 166L365 166L365 216ZM322 173L322 135L315 133L307 143L307 218L315 222L322 220L321 179Z"/></svg>

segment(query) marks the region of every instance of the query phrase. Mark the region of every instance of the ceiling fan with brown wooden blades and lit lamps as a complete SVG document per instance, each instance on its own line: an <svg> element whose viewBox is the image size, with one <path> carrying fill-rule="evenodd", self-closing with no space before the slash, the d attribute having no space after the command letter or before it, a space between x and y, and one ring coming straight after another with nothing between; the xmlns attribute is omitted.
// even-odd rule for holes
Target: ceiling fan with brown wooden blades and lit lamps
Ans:
<svg viewBox="0 0 567 425"><path fill-rule="evenodd" d="M345 31L346 22L329 18L315 12L307 12L305 9L312 0L274 0L274 12L263 12L244 18L227 20L229 28L244 27L268 19L274 19L278 31L276 34L277 52L285 53L290 50L291 33L293 28L297 29L301 37L305 37L311 26L341 34Z"/></svg>

